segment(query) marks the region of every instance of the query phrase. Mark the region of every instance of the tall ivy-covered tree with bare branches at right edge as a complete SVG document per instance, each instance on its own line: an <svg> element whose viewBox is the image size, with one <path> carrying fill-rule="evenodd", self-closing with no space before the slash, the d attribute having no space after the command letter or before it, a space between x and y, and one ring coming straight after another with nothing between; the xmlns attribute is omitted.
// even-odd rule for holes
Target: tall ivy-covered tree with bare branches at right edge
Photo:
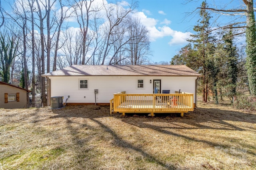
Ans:
<svg viewBox="0 0 256 170"><path fill-rule="evenodd" d="M246 69L248 75L248 83L249 89L252 96L256 96L256 20L254 15L254 0L242 0L246 6L246 9L222 9L222 8L208 8L201 7L199 9L210 10L212 12L217 13L219 16L221 15L229 15L229 16L246 16L246 24L244 22L240 22L240 19L233 19L233 22L228 22L226 26L219 26L217 24L218 29L232 29L232 30L240 30L241 28L246 28ZM219 18L217 16L217 18ZM239 20L239 21L238 21ZM242 34L239 32L237 35Z"/></svg>

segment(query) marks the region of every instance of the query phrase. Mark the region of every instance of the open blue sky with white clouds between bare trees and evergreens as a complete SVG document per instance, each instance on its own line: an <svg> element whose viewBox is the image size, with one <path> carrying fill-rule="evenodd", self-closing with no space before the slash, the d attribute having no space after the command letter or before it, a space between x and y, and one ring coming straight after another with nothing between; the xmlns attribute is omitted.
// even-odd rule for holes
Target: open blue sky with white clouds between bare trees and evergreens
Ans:
<svg viewBox="0 0 256 170"><path fill-rule="evenodd" d="M200 7L202 0L194 0L185 4L186 0L138 0L141 21L150 30L151 50L154 62L170 61L188 42L185 38L193 33L193 27L199 19L198 14L186 17L187 12ZM242 0L208 0L208 4L234 8ZM143 13L143 14L142 14ZM145 15L145 16L143 16ZM146 17L146 18L145 18Z"/></svg>

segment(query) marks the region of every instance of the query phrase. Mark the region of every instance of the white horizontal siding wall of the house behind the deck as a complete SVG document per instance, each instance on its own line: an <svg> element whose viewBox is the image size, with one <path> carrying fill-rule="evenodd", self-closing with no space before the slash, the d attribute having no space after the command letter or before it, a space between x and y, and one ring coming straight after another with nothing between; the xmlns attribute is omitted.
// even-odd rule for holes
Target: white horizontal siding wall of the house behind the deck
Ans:
<svg viewBox="0 0 256 170"><path fill-rule="evenodd" d="M78 89L79 80L88 80L90 89L81 91ZM170 90L170 93L182 91L195 93L196 77L186 76L52 76L51 96L64 96L67 103L94 103L94 89L97 103L109 103L114 93L126 91L127 94L152 94L153 79L161 79L161 89ZM143 79L143 88L138 88L138 80ZM152 83L150 83L152 80ZM135 85L136 82L136 85ZM61 86L60 86L61 85ZM161 92L162 93L162 92ZM194 95L195 96L195 95ZM195 99L194 99L195 100Z"/></svg>

